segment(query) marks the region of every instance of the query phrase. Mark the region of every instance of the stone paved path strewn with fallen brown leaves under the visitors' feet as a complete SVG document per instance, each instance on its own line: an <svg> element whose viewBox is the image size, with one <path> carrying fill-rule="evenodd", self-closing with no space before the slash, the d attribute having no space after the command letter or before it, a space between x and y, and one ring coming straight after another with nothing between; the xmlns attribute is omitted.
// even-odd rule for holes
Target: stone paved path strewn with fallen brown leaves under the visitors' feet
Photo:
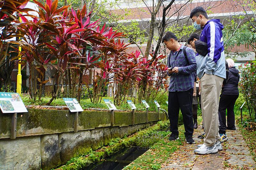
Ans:
<svg viewBox="0 0 256 170"><path fill-rule="evenodd" d="M203 139L197 138L203 133L202 126L194 131L196 144L184 144L179 150L170 154L161 169L185 169L185 170L223 170L223 169L255 169L256 164L244 141L244 138L236 126L236 130L227 130L228 141L222 143L223 150L216 154L196 155L194 150L197 144L202 144Z"/></svg>

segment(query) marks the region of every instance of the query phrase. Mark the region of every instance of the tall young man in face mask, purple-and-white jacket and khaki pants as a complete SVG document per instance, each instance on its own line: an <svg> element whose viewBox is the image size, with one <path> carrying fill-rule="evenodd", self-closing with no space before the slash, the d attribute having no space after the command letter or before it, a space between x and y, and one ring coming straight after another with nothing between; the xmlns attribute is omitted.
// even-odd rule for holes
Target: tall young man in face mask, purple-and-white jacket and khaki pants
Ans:
<svg viewBox="0 0 256 170"><path fill-rule="evenodd" d="M200 41L207 44L208 54L197 55L197 76L201 82L201 104L204 122L204 144L197 145L196 154L217 153L222 150L219 134L219 101L226 64L222 37L223 25L219 19L209 20L202 7L194 8L190 18L196 29L202 30Z"/></svg>

